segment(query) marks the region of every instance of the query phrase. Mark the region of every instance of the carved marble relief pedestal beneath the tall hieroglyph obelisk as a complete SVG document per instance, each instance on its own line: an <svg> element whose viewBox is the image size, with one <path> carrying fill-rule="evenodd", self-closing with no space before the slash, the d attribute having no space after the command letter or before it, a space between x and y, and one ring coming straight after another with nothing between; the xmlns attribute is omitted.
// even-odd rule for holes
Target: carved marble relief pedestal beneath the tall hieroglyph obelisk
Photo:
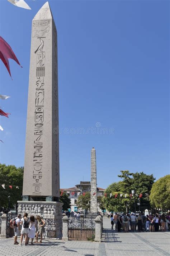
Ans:
<svg viewBox="0 0 170 256"><path fill-rule="evenodd" d="M61 238L62 237L62 205L60 202L44 202L44 201L18 201L18 214L24 216L28 213L28 217L34 215L41 216L46 222L44 237Z"/></svg>

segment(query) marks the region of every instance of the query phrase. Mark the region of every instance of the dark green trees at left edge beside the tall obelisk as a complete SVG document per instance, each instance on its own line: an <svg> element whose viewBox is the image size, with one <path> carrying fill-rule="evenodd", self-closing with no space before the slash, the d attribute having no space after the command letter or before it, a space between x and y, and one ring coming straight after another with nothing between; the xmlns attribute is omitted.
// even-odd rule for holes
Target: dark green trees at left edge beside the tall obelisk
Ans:
<svg viewBox="0 0 170 256"><path fill-rule="evenodd" d="M6 185L5 189L0 186L0 208L13 208L17 201L22 200L23 173L23 167L0 164L0 184ZM10 189L9 185L13 188Z"/></svg>

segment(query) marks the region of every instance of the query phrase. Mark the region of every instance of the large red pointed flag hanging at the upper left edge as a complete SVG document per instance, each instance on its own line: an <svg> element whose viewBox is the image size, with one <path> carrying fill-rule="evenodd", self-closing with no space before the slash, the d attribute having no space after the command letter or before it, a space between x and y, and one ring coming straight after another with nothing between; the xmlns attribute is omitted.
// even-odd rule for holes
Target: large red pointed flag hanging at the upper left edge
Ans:
<svg viewBox="0 0 170 256"><path fill-rule="evenodd" d="M15 60L16 63L21 67L18 59L15 56L15 53L11 49L11 46L1 36L0 36L0 59L3 61L5 67L7 68L10 77L11 77L11 72L10 72L8 59Z"/></svg>

